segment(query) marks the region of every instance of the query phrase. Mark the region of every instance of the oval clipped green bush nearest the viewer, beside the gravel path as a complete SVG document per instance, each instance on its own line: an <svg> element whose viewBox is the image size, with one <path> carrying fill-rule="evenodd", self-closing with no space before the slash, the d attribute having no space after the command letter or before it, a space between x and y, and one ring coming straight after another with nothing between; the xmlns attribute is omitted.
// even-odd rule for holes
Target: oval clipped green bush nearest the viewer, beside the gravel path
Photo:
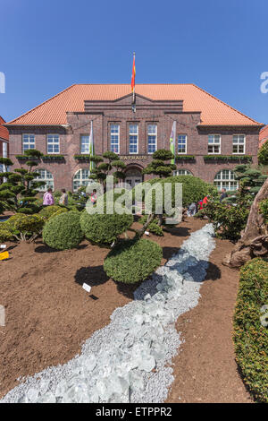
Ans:
<svg viewBox="0 0 268 421"><path fill-rule="evenodd" d="M160 265L162 257L162 248L153 241L123 240L108 253L104 269L109 278L133 284L147 279Z"/></svg>

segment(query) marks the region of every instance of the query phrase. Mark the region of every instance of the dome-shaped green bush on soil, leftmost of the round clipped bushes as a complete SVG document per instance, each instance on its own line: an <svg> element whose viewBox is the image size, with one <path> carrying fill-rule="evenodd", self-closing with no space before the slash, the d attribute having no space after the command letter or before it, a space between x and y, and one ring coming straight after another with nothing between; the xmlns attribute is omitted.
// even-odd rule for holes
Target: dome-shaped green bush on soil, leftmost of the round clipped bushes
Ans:
<svg viewBox="0 0 268 421"><path fill-rule="evenodd" d="M65 212L47 220L43 229L43 241L56 250L77 247L84 234L80 228L80 213Z"/></svg>

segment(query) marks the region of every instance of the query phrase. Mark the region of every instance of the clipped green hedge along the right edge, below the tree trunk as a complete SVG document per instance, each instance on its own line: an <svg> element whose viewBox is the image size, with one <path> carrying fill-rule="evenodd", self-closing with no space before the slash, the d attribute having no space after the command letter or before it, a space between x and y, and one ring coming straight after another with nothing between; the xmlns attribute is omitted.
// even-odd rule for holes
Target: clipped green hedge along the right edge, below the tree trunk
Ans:
<svg viewBox="0 0 268 421"><path fill-rule="evenodd" d="M268 403L268 327L260 319L264 316L261 312L264 305L268 305L268 261L255 258L240 271L234 344L236 360L249 390L256 400Z"/></svg>

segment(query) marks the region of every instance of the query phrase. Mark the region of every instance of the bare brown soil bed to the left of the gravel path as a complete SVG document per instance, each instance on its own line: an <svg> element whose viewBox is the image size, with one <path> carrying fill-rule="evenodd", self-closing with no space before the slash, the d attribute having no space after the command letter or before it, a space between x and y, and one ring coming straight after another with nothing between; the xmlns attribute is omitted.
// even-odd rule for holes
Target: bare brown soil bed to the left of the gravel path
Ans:
<svg viewBox="0 0 268 421"><path fill-rule="evenodd" d="M163 263L204 225L191 219L169 228L163 237L151 236L163 247ZM0 396L16 386L19 377L80 353L83 341L110 322L113 310L127 304L137 288L107 279L103 262L108 249L86 241L63 252L41 241L11 244L9 251L10 260L1 262L0 304L6 309L6 326L0 327ZM91 296L81 288L83 282L92 287Z"/></svg>

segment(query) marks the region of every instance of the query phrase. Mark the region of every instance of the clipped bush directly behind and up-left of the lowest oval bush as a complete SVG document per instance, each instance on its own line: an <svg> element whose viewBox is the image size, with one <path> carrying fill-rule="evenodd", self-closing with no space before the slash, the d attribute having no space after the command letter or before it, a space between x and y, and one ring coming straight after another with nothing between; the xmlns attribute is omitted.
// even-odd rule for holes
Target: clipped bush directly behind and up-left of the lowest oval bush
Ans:
<svg viewBox="0 0 268 421"><path fill-rule="evenodd" d="M111 244L125 232L133 223L133 216L123 213L89 215L83 211L80 216L80 226L89 241L98 244Z"/></svg>

